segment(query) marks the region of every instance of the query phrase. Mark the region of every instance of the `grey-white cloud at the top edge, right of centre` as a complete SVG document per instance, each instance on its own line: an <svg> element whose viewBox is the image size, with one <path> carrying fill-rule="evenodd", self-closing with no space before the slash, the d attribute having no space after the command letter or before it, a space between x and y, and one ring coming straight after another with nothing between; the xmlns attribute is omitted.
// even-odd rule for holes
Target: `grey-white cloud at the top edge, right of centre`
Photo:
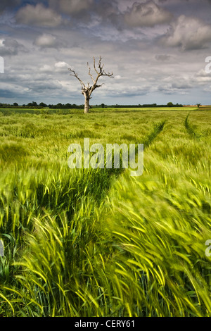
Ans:
<svg viewBox="0 0 211 331"><path fill-rule="evenodd" d="M169 23L172 17L172 13L149 0L143 4L134 2L132 8L124 14L124 21L132 27L153 27Z"/></svg>

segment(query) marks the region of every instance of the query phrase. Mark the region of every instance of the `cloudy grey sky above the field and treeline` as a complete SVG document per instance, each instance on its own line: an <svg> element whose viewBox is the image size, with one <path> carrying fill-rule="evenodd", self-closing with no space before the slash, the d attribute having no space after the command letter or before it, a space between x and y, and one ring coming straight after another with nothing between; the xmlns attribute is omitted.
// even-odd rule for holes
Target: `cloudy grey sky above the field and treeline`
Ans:
<svg viewBox="0 0 211 331"><path fill-rule="evenodd" d="M210 0L1 0L0 102L83 104L68 68L87 84L102 56L115 77L91 104L211 104L210 13Z"/></svg>

